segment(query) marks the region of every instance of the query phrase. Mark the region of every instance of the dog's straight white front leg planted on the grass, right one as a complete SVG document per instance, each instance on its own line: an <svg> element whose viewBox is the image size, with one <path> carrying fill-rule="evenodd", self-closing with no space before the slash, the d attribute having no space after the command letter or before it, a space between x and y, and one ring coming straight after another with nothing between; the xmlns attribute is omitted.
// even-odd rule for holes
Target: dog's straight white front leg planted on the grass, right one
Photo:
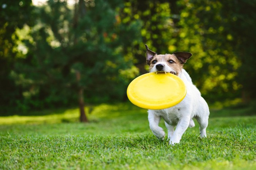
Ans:
<svg viewBox="0 0 256 170"><path fill-rule="evenodd" d="M170 144L174 145L175 143L179 143L181 136L184 134L184 132L188 129L189 126L190 117L182 117L178 124L176 129L173 132L173 135L170 139Z"/></svg>

